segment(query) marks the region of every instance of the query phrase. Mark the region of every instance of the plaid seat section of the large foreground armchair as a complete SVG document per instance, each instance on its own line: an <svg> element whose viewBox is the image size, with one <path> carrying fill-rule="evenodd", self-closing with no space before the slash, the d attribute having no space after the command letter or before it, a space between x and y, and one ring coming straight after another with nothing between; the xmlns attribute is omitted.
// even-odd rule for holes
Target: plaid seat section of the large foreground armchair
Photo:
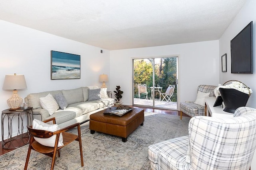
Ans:
<svg viewBox="0 0 256 170"><path fill-rule="evenodd" d="M174 166L189 166L185 162L186 153L188 150L188 136L178 137L175 139L170 139L148 147L148 158L151 161L152 170L158 169L171 169ZM162 159L164 162L160 162L160 154L162 154ZM171 164L168 160L172 160ZM180 162L184 162L182 165ZM164 168L165 167L165 168Z"/></svg>

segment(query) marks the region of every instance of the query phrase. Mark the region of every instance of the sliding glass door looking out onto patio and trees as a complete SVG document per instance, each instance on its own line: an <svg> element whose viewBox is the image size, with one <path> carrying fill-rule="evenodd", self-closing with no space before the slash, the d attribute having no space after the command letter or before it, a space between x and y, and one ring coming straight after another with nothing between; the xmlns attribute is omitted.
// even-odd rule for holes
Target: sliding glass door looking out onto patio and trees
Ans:
<svg viewBox="0 0 256 170"><path fill-rule="evenodd" d="M178 57L133 60L133 105L177 109Z"/></svg>

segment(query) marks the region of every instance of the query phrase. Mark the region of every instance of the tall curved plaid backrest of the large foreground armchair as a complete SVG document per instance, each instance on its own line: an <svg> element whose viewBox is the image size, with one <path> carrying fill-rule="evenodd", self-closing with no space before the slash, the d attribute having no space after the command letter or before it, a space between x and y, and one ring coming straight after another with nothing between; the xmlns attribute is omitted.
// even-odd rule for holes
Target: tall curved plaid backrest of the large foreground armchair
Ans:
<svg viewBox="0 0 256 170"><path fill-rule="evenodd" d="M256 109L240 108L232 118L190 119L191 170L249 169L256 148Z"/></svg>

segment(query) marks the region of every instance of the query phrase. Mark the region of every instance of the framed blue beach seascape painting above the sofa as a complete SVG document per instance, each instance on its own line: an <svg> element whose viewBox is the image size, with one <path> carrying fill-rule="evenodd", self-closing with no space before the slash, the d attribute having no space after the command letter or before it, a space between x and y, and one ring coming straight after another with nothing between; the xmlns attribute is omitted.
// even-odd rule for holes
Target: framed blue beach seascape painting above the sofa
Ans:
<svg viewBox="0 0 256 170"><path fill-rule="evenodd" d="M51 51L51 80L79 78L80 55Z"/></svg>

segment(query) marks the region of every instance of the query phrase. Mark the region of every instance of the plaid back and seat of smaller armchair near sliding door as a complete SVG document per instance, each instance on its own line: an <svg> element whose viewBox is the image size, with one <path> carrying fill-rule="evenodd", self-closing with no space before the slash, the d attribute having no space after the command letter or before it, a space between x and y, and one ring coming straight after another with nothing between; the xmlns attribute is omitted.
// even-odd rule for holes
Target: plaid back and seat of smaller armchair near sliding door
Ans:
<svg viewBox="0 0 256 170"><path fill-rule="evenodd" d="M210 97L214 96L214 88L217 86L212 85L199 85L197 90L203 93L210 92ZM194 102L180 102L180 111L189 115L190 117L205 115L204 106L195 104Z"/></svg>

